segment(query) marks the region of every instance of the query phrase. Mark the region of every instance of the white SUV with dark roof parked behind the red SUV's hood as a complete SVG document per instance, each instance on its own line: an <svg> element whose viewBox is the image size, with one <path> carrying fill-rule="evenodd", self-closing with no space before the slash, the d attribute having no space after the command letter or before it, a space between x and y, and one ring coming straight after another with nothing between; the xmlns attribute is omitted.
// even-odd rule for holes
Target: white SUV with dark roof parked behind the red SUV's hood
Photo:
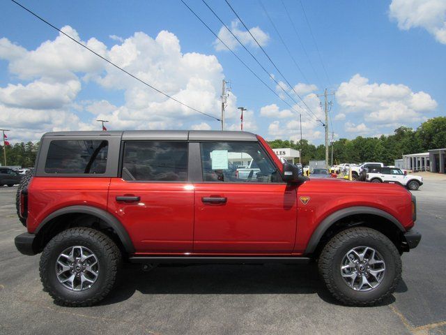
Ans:
<svg viewBox="0 0 446 335"><path fill-rule="evenodd" d="M367 172L367 181L371 183L389 183L406 186L410 191L417 191L423 184L423 177L406 174L399 168L374 168Z"/></svg>

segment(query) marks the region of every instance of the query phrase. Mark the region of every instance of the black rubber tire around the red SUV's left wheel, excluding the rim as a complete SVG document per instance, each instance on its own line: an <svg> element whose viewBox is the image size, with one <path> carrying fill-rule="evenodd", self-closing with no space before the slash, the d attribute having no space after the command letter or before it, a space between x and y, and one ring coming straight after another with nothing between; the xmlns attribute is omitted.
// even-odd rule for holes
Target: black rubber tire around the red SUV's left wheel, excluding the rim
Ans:
<svg viewBox="0 0 446 335"><path fill-rule="evenodd" d="M89 248L100 265L98 278L91 288L72 291L59 283L56 277L56 260L70 246ZM118 271L122 267L122 256L118 246L104 233L91 228L70 228L57 234L40 256L40 280L43 288L56 304L62 306L91 306L104 299L116 285Z"/></svg>

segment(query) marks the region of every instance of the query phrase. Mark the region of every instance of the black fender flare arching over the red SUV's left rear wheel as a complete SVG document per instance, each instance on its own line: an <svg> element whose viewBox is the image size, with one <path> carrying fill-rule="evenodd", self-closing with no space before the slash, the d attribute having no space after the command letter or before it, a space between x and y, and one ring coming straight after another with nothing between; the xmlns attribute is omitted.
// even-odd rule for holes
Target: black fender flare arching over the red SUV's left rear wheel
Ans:
<svg viewBox="0 0 446 335"><path fill-rule="evenodd" d="M125 228L123 227L121 221L119 221L115 216L113 216L109 212L97 207L77 205L58 209L57 211L52 212L52 214L49 214L46 218L43 219L42 222L40 222L34 234L37 235L40 232L40 230L52 219L57 218L58 216L61 215L75 214L75 213L90 214L96 216L97 218L100 218L102 221L106 223L106 225L109 225L110 228L113 228L113 230L116 232L119 239L121 240L125 248L125 251L127 251L128 253L134 253L135 249L133 246L132 239L130 239L129 234L127 230L125 230Z"/></svg>

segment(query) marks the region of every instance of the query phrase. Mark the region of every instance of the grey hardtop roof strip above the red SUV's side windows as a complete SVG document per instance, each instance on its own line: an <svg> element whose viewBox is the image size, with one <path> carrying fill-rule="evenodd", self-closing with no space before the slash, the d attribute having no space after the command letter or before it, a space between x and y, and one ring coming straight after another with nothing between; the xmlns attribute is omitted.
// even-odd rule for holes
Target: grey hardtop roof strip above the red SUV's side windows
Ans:
<svg viewBox="0 0 446 335"><path fill-rule="evenodd" d="M122 140L176 140L176 141L257 141L247 131L58 131L43 137L95 137L118 136Z"/></svg>

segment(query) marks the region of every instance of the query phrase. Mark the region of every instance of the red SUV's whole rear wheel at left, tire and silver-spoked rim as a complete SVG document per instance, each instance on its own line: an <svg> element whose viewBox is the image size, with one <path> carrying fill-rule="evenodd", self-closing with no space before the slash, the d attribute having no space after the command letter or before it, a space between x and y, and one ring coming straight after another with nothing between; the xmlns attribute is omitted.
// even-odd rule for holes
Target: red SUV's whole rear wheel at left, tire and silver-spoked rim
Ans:
<svg viewBox="0 0 446 335"><path fill-rule="evenodd" d="M54 237L40 257L40 280L57 304L91 306L116 283L122 257L107 235L91 228L70 228Z"/></svg>

